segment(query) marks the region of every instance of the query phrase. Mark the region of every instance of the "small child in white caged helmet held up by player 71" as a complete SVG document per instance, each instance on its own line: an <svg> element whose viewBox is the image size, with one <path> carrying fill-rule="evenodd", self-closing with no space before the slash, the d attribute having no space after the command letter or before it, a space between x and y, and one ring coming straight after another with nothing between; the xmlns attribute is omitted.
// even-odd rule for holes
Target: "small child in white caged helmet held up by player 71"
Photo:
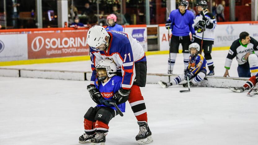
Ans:
<svg viewBox="0 0 258 145"><path fill-rule="evenodd" d="M117 109L109 104L116 102L113 96L122 87L122 77L116 76L116 70L115 63L110 59L97 64L95 86L88 91L91 96L97 93L99 99L93 98L97 106L89 108L84 115L85 133L79 137L79 143L105 143L109 121L118 114ZM125 103L119 104L118 108L125 112Z"/></svg>

